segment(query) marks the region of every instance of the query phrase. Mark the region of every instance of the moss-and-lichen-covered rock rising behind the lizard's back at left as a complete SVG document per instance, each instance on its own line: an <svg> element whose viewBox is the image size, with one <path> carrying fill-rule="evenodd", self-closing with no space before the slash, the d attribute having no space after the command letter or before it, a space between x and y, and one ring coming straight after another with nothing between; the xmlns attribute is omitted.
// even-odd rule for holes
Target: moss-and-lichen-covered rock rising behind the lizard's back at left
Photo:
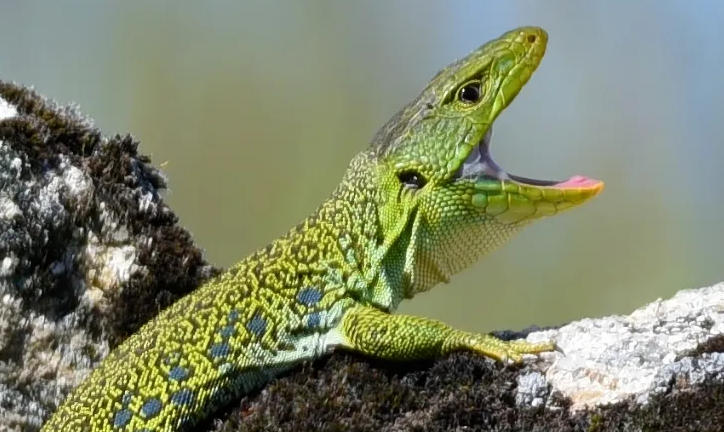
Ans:
<svg viewBox="0 0 724 432"><path fill-rule="evenodd" d="M0 431L37 430L111 346L217 271L136 148L0 81Z"/></svg>

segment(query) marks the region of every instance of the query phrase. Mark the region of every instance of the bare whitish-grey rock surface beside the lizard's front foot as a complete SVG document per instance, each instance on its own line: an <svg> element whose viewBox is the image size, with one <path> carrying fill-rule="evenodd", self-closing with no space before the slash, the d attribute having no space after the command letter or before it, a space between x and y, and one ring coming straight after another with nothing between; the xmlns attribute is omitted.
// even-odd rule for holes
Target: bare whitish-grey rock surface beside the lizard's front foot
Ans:
<svg viewBox="0 0 724 432"><path fill-rule="evenodd" d="M715 337L724 337L724 283L680 291L630 315L587 318L528 339L553 339L562 348L565 355L542 355L540 376L578 410L631 397L646 403L672 385L724 380L724 353L689 355ZM540 387L539 380L521 376L521 400L535 402L529 395Z"/></svg>

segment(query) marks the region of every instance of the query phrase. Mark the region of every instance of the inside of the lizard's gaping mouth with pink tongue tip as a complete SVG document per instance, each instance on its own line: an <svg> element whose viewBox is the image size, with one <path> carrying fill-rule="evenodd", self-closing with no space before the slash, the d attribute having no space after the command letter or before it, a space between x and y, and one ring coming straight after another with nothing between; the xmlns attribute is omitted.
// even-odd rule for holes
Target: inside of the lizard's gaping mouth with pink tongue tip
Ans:
<svg viewBox="0 0 724 432"><path fill-rule="evenodd" d="M555 189L598 189L603 186L600 180L575 175L568 180L539 180L510 174L502 169L490 155L490 140L493 127L490 126L480 143L470 151L467 159L460 167L458 177L484 177L495 180L508 180L528 186Z"/></svg>

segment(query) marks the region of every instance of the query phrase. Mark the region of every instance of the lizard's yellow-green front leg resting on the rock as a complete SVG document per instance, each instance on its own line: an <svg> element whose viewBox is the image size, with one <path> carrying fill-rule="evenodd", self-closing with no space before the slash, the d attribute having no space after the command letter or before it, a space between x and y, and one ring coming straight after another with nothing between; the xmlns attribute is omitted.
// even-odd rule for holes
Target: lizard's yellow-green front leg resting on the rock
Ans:
<svg viewBox="0 0 724 432"><path fill-rule="evenodd" d="M392 315L370 306L347 311L337 327L338 346L386 360L431 359L458 350L518 363L523 354L556 350L552 342L503 341L489 334L466 332L442 321Z"/></svg>

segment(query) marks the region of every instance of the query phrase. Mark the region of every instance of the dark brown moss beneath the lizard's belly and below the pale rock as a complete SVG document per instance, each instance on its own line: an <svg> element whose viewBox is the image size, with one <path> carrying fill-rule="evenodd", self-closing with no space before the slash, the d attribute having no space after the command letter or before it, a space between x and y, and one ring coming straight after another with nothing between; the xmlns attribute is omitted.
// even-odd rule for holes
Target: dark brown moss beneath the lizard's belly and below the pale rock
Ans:
<svg viewBox="0 0 724 432"><path fill-rule="evenodd" d="M195 428L222 431L722 431L724 384L707 382L571 413L515 403L520 367L470 353L435 362L386 363L339 353L298 368Z"/></svg>

